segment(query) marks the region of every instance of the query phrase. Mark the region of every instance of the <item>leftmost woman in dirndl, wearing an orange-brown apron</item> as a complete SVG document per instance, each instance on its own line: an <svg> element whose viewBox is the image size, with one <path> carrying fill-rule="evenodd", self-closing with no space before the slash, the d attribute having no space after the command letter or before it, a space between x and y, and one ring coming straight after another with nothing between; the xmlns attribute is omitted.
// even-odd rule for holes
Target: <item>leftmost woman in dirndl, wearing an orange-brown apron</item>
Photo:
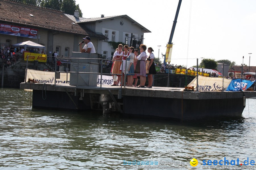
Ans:
<svg viewBox="0 0 256 170"><path fill-rule="evenodd" d="M122 44L119 44L118 45L118 50L115 51L114 55L113 55L113 60L114 63L113 63L113 66L111 68L111 73L112 73L112 76L113 76L113 80L115 79L114 76L115 74L120 74L120 75L116 75L117 76L117 81L114 81L114 83L111 85L111 86L118 86L119 84L119 81L121 79L121 71L120 71L120 67L121 67L121 61L122 61L122 58L123 58L123 45Z"/></svg>

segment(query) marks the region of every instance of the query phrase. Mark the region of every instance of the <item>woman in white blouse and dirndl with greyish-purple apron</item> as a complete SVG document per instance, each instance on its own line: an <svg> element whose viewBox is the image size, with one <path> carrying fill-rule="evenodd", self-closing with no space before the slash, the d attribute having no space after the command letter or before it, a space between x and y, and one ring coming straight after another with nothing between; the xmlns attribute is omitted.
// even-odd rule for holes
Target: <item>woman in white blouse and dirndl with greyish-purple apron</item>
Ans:
<svg viewBox="0 0 256 170"><path fill-rule="evenodd" d="M137 76L140 76L140 85L138 87L145 87L146 82L146 64L145 60L147 58L147 54L145 50L147 49L147 46L144 44L140 45L140 52L141 54L136 58L137 65L135 68L135 73Z"/></svg>

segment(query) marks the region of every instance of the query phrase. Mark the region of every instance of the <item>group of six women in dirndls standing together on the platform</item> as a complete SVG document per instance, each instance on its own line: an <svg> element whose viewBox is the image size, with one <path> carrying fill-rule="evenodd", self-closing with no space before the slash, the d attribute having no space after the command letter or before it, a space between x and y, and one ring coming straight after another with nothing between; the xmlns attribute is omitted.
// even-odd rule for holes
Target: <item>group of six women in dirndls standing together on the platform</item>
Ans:
<svg viewBox="0 0 256 170"><path fill-rule="evenodd" d="M122 81L124 84L124 75L126 71L127 75L127 86L129 87L136 87L138 78L140 77L140 85L137 87L145 87L146 82L146 75L148 75L148 88L152 88L153 83L153 76L152 74L156 74L156 68L154 63L154 54L152 53L154 50L149 47L148 53L149 56L146 54L146 45L140 45L140 55L138 55L139 50L134 49L133 47L128 47L125 45L123 47L122 44L118 45L117 50L113 55L113 60L115 62L112 65L111 73L113 75L114 83L111 86L118 86L119 82ZM123 51L122 51L123 49ZM125 60L127 58L127 63L125 64ZM122 61L123 60L123 64ZM123 68L122 68L123 67ZM123 73L122 73L123 70ZM115 78L116 75L117 80ZM121 74L123 74L123 80L121 80ZM133 85L133 79L135 78L135 84Z"/></svg>

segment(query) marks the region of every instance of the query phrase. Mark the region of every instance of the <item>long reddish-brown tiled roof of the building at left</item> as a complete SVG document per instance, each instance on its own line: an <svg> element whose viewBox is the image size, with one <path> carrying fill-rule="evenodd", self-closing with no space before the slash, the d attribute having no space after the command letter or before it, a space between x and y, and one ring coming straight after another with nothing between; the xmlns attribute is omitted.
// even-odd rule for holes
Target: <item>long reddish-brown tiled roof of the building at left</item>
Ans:
<svg viewBox="0 0 256 170"><path fill-rule="evenodd" d="M14 0L0 0L0 10L2 11L0 12L0 22L3 23L106 39L104 35L97 34L82 24L75 23L59 10L22 4Z"/></svg>

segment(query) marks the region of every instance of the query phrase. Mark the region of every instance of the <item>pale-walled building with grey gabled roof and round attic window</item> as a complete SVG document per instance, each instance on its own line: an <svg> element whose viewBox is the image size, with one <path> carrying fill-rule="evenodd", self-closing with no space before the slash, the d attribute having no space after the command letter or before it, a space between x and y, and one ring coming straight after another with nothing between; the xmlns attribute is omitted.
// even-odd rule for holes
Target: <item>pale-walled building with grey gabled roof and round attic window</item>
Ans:
<svg viewBox="0 0 256 170"><path fill-rule="evenodd" d="M96 33L102 33L108 39L98 40L97 52L103 54L103 58L112 59L115 49L108 41L123 42L128 46L143 44L144 33L150 33L148 29L127 15L108 16L99 18L86 18L77 23L84 24L88 29Z"/></svg>

